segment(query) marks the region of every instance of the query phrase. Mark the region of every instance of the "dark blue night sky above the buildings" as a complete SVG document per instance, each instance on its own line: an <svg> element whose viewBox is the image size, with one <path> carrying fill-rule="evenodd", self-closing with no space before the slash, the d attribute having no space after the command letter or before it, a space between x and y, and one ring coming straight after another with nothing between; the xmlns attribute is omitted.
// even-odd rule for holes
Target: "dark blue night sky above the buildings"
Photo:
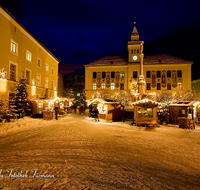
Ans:
<svg viewBox="0 0 200 190"><path fill-rule="evenodd" d="M144 55L167 54L200 62L199 0L0 0L60 64L127 56L134 26ZM200 72L192 73L193 79Z"/></svg>

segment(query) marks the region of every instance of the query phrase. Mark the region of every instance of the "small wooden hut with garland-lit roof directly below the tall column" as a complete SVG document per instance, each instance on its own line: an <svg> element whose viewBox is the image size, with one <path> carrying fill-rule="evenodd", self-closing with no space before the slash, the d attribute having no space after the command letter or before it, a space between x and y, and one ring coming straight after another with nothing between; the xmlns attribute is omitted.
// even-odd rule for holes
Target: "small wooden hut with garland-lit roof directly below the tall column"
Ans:
<svg viewBox="0 0 200 190"><path fill-rule="evenodd" d="M157 126L157 106L161 105L149 99L142 99L133 102L134 106L134 122L136 126Z"/></svg>

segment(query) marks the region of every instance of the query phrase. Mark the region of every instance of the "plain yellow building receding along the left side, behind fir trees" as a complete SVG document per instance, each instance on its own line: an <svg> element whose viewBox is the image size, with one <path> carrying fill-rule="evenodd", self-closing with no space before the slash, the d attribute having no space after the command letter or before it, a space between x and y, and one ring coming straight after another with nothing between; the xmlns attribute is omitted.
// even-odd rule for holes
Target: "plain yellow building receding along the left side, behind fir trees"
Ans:
<svg viewBox="0 0 200 190"><path fill-rule="evenodd" d="M0 99L15 93L26 78L29 98L55 97L59 61L0 6Z"/></svg>

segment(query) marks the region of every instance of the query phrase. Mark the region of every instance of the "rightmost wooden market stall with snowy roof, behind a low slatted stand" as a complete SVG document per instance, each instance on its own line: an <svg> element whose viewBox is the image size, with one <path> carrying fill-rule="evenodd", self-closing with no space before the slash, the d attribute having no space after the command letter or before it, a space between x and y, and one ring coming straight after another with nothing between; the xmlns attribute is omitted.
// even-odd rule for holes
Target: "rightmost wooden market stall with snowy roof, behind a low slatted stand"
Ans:
<svg viewBox="0 0 200 190"><path fill-rule="evenodd" d="M198 101L176 101L169 105L169 121L171 123L179 123L181 118L189 118L197 120Z"/></svg>

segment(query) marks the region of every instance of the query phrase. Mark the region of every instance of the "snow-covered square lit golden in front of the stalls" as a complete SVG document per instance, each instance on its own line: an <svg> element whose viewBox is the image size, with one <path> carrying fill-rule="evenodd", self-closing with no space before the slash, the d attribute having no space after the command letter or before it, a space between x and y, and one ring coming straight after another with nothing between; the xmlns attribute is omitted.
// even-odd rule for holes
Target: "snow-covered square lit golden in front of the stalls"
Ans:
<svg viewBox="0 0 200 190"><path fill-rule="evenodd" d="M68 114L0 124L0 189L200 189L200 127Z"/></svg>

